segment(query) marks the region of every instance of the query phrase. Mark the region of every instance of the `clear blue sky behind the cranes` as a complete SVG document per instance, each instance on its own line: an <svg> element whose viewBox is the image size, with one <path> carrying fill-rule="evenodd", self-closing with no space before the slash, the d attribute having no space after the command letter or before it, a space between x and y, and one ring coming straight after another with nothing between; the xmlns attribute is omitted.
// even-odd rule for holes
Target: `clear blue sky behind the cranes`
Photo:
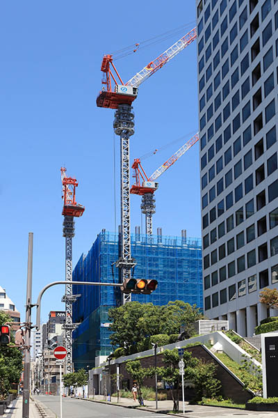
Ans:
<svg viewBox="0 0 278 418"><path fill-rule="evenodd" d="M101 59L180 26L163 42L115 61L124 82L195 26L195 1L147 3L92 0L1 1L0 284L25 319L28 232L34 233L33 302L50 281L65 278L60 167L79 181L74 265L97 233L120 223L119 137L113 110L99 109ZM193 42L140 86L134 102L131 162L176 141L142 162L151 175L198 130L197 43ZM195 144L159 179L154 230L201 234L199 151ZM131 196L132 231L141 224L140 197ZM42 300L42 320L64 309L63 286ZM35 309L33 309L35 321Z"/></svg>

